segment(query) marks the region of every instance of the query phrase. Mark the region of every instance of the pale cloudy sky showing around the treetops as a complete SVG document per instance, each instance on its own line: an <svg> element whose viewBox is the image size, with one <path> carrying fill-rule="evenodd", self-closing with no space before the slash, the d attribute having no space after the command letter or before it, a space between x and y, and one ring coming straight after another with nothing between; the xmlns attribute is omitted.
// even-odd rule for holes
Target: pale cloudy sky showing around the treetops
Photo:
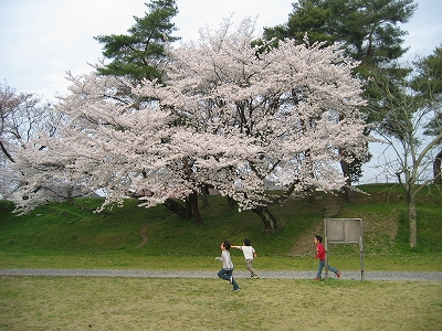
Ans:
<svg viewBox="0 0 442 331"><path fill-rule="evenodd" d="M217 29L231 14L235 22L256 17L256 28L262 31L263 26L285 23L294 1L177 0L176 35L185 42L196 40L200 28ZM93 38L126 34L135 23L134 15L145 17L145 2L148 0L0 0L1 82L48 100L65 95L66 71L88 73L88 63L102 57L102 45ZM429 55L442 44L442 1L414 3L413 18L401 25L409 32L404 46L410 50L404 60ZM376 158L372 162L376 166ZM370 175L366 181L377 180Z"/></svg>

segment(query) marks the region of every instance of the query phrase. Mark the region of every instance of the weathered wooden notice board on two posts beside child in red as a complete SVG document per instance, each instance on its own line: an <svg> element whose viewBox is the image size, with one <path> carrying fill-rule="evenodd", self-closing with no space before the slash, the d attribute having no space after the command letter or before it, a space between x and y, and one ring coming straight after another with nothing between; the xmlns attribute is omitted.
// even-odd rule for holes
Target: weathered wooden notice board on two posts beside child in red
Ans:
<svg viewBox="0 0 442 331"><path fill-rule="evenodd" d="M360 280L364 281L364 222L362 218L324 218L325 275L328 277L328 243L357 243L360 254Z"/></svg>

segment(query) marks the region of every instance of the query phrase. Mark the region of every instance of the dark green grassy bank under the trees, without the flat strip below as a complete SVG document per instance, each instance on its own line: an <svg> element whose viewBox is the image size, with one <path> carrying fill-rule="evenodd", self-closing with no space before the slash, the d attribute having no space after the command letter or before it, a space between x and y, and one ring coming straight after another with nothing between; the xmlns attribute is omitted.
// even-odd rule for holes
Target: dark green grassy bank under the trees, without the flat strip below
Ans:
<svg viewBox="0 0 442 331"><path fill-rule="evenodd" d="M441 193L422 193L418 200L418 248L408 247L408 224L404 194L398 186L365 185L354 203L343 196L320 194L316 201L286 201L270 207L281 229L262 233L261 220L251 211L239 213L228 207L227 199L210 196L210 205L201 203L204 223L180 220L165 206L137 207L128 200L124 207L102 213L93 211L99 199L75 200L73 203L49 204L28 215L11 214L13 206L0 202L0 253L7 255L81 256L213 256L219 243L230 239L241 244L252 241L260 256L311 257L313 236L323 233L324 217L364 220L366 256L407 255L418 252L442 253ZM332 247L334 255L358 254L358 245Z"/></svg>

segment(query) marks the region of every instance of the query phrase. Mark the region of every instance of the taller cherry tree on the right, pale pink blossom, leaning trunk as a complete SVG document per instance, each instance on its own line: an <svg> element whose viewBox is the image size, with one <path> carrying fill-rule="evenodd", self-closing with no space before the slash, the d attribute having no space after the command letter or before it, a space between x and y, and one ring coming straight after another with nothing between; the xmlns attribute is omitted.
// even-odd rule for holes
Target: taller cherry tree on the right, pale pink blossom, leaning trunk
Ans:
<svg viewBox="0 0 442 331"><path fill-rule="evenodd" d="M198 43L170 51L167 86L145 82L136 90L173 109L197 132L253 139L261 151L245 168L224 168L221 181L209 179L272 232L276 223L266 206L273 199L263 193L264 180L284 186L286 196L343 188L338 149L354 156L366 149L358 110L364 100L350 74L357 63L338 44L285 40L261 53L251 47L254 38L251 19L238 30L229 19L215 32L201 30Z"/></svg>

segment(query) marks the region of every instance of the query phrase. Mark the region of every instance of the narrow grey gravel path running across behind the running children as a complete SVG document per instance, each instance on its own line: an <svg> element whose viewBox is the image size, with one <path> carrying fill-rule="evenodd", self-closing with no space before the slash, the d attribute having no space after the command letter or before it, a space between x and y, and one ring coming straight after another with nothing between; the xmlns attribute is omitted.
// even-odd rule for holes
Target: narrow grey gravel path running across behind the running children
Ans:
<svg viewBox="0 0 442 331"><path fill-rule="evenodd" d="M323 274L324 275L324 274ZM218 278L215 271L161 271L135 269L0 269L0 276L74 276L139 278ZM235 278L249 278L249 271L234 271ZM313 279L312 271L261 271L261 278ZM336 277L330 275L330 277ZM365 280L442 281L442 273L365 271ZM341 279L360 280L360 271L341 271Z"/></svg>

